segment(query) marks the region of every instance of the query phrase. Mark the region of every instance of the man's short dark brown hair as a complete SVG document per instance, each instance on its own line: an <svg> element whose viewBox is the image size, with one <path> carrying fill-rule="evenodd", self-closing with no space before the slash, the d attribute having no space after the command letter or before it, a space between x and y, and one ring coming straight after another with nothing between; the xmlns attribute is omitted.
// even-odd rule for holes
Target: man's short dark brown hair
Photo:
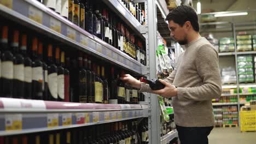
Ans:
<svg viewBox="0 0 256 144"><path fill-rule="evenodd" d="M199 23L196 11L188 6L188 5L181 5L175 9L173 9L167 16L166 21L173 21L178 23L179 26L183 26L186 21L190 21L193 29L196 32L199 32Z"/></svg>

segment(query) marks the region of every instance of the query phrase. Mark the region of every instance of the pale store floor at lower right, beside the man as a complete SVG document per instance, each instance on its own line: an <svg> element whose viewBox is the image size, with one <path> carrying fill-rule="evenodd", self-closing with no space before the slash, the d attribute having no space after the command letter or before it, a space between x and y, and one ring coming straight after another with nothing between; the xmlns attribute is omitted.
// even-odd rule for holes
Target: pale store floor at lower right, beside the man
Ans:
<svg viewBox="0 0 256 144"><path fill-rule="evenodd" d="M214 128L208 136L209 144L255 144L256 131L242 132L240 128Z"/></svg>

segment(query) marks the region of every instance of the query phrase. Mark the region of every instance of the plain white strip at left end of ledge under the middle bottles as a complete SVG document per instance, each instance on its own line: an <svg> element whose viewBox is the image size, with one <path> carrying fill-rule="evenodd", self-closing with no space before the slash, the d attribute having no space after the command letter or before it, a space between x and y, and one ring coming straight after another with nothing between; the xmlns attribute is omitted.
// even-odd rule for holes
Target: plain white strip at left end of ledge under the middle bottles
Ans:
<svg viewBox="0 0 256 144"><path fill-rule="evenodd" d="M11 99L1 98L5 110L45 110L46 106L43 100L28 100L28 99Z"/></svg>

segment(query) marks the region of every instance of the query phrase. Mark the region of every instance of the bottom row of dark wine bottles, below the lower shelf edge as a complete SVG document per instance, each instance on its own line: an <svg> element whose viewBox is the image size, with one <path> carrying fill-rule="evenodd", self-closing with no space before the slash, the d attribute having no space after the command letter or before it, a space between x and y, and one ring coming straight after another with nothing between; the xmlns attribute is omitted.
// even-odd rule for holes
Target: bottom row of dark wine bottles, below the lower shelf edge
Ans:
<svg viewBox="0 0 256 144"><path fill-rule="evenodd" d="M0 144L147 144L148 123L135 120L0 137Z"/></svg>

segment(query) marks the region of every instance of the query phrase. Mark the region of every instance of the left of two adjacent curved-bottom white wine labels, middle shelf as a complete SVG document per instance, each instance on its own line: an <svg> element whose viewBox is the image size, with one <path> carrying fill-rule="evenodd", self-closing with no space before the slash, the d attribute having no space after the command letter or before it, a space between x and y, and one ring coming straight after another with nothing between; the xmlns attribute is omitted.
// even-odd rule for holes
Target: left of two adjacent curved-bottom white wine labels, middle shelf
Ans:
<svg viewBox="0 0 256 144"><path fill-rule="evenodd" d="M51 95L53 95L53 97L55 99L58 98L58 94L57 94L57 73L52 73L48 75L48 85L49 85L49 91L51 93Z"/></svg>

